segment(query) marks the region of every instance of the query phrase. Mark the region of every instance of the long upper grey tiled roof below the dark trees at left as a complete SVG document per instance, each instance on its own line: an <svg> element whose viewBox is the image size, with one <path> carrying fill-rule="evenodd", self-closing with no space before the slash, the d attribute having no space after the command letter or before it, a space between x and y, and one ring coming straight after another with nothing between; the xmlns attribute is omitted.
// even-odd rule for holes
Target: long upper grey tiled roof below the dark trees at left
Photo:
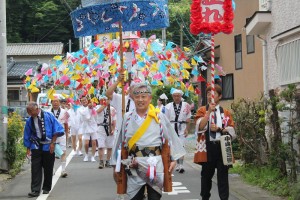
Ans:
<svg viewBox="0 0 300 200"><path fill-rule="evenodd" d="M7 56L30 56L30 55L61 55L64 44L52 43L8 43Z"/></svg>

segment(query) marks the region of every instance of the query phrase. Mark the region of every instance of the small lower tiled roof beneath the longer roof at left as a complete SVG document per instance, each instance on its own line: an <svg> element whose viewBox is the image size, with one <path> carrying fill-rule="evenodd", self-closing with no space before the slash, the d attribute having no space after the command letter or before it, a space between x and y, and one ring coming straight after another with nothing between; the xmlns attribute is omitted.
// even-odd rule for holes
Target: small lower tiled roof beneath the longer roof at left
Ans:
<svg viewBox="0 0 300 200"><path fill-rule="evenodd" d="M13 63L13 64L12 64ZM7 63L7 78L20 78L33 68L36 71L40 64L37 61L12 61Z"/></svg>

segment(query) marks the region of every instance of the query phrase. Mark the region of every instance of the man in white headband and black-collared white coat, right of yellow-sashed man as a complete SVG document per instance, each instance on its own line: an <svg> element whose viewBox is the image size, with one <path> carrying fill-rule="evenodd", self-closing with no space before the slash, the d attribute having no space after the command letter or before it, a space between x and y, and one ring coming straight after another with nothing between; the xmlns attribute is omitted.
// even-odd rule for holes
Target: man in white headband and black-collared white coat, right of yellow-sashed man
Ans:
<svg viewBox="0 0 300 200"><path fill-rule="evenodd" d="M172 123L181 144L184 147L185 138L189 133L191 109L190 105L182 101L182 90L175 89L172 92L173 102L166 105L166 116ZM177 160L176 171L184 173L183 159L181 157Z"/></svg>

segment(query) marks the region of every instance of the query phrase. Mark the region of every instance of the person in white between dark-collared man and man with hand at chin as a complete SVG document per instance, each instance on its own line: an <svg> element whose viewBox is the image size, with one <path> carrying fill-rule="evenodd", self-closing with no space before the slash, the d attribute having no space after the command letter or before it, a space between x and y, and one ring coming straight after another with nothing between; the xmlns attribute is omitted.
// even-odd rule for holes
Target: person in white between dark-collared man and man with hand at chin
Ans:
<svg viewBox="0 0 300 200"><path fill-rule="evenodd" d="M79 126L80 126L80 115L77 111L77 109L74 109L73 106L71 106L70 103L66 104L66 107L68 108L68 114L69 114L69 120L68 125L70 128L70 134L72 139L72 148L74 152L76 152L76 155L82 156L82 133L79 132ZM78 138L78 148L76 144L76 137Z"/></svg>

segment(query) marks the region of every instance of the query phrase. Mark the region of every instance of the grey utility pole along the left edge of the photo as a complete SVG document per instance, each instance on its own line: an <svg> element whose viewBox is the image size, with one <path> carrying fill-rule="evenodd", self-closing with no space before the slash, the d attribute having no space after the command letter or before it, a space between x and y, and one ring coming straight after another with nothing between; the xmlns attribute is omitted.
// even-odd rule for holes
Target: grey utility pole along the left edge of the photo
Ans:
<svg viewBox="0 0 300 200"><path fill-rule="evenodd" d="M8 170L5 159L7 145L7 59L6 1L0 1L0 169ZM2 146L3 145L3 146ZM4 147L4 148L3 148Z"/></svg>

